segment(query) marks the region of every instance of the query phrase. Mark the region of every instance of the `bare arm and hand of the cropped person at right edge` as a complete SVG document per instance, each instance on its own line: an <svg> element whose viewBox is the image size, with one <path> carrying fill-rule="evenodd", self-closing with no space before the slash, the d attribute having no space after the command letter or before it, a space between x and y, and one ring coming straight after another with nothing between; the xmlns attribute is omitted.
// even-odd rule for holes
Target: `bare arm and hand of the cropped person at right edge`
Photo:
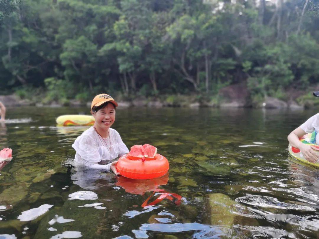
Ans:
<svg viewBox="0 0 319 239"><path fill-rule="evenodd" d="M319 148L304 144L299 140L299 138L305 134L306 132L301 127L298 127L288 135L288 141L293 147L299 148L305 159L307 159L309 162L319 163L319 157L315 153L315 150L319 150Z"/></svg>

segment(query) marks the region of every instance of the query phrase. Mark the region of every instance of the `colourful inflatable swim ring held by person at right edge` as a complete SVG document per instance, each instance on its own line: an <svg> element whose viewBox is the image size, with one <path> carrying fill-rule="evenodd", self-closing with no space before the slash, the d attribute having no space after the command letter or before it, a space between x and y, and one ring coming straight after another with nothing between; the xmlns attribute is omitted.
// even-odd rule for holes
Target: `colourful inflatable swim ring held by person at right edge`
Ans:
<svg viewBox="0 0 319 239"><path fill-rule="evenodd" d="M299 138L300 142L308 145L315 146L316 148L319 148L319 145L315 144L316 143L316 132L312 132L311 134L305 134L304 136L301 136ZM291 146L290 144L288 145L289 153L291 156L293 156L295 159L301 161L302 163L307 163L315 167L319 167L319 163L311 163L307 159L304 158L302 153L300 152L299 148L295 148ZM316 152L319 156L319 151Z"/></svg>

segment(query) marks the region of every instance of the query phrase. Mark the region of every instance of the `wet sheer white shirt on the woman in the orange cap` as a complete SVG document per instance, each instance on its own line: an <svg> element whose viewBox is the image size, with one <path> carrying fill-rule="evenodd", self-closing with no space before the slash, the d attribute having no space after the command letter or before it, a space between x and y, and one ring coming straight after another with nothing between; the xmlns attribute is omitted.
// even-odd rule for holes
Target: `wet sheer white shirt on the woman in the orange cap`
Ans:
<svg viewBox="0 0 319 239"><path fill-rule="evenodd" d="M109 130L110 136L106 139L102 138L93 126L78 136L72 144L76 151L74 163L109 171L113 159L129 152L120 134L115 129Z"/></svg>

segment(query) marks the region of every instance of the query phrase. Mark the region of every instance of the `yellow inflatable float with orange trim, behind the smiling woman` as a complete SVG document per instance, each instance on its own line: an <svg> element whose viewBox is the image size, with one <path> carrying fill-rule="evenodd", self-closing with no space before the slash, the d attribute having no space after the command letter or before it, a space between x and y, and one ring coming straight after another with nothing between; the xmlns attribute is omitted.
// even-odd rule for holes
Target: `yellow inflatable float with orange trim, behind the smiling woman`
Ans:
<svg viewBox="0 0 319 239"><path fill-rule="evenodd" d="M56 118L56 123L63 126L93 125L94 118L92 115L66 114Z"/></svg>

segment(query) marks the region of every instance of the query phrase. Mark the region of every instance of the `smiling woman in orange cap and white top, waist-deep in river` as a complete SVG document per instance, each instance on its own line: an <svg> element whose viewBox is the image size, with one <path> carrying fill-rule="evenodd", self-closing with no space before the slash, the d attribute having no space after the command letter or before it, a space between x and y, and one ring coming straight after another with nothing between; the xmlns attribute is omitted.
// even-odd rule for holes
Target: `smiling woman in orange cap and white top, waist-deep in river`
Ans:
<svg viewBox="0 0 319 239"><path fill-rule="evenodd" d="M120 134L112 129L115 121L116 101L108 94L100 94L94 97L91 104L91 114L95 119L92 127L72 144L76 150L74 162L77 165L85 165L90 169L112 170L116 175L117 161L112 162L129 152L123 143Z"/></svg>

